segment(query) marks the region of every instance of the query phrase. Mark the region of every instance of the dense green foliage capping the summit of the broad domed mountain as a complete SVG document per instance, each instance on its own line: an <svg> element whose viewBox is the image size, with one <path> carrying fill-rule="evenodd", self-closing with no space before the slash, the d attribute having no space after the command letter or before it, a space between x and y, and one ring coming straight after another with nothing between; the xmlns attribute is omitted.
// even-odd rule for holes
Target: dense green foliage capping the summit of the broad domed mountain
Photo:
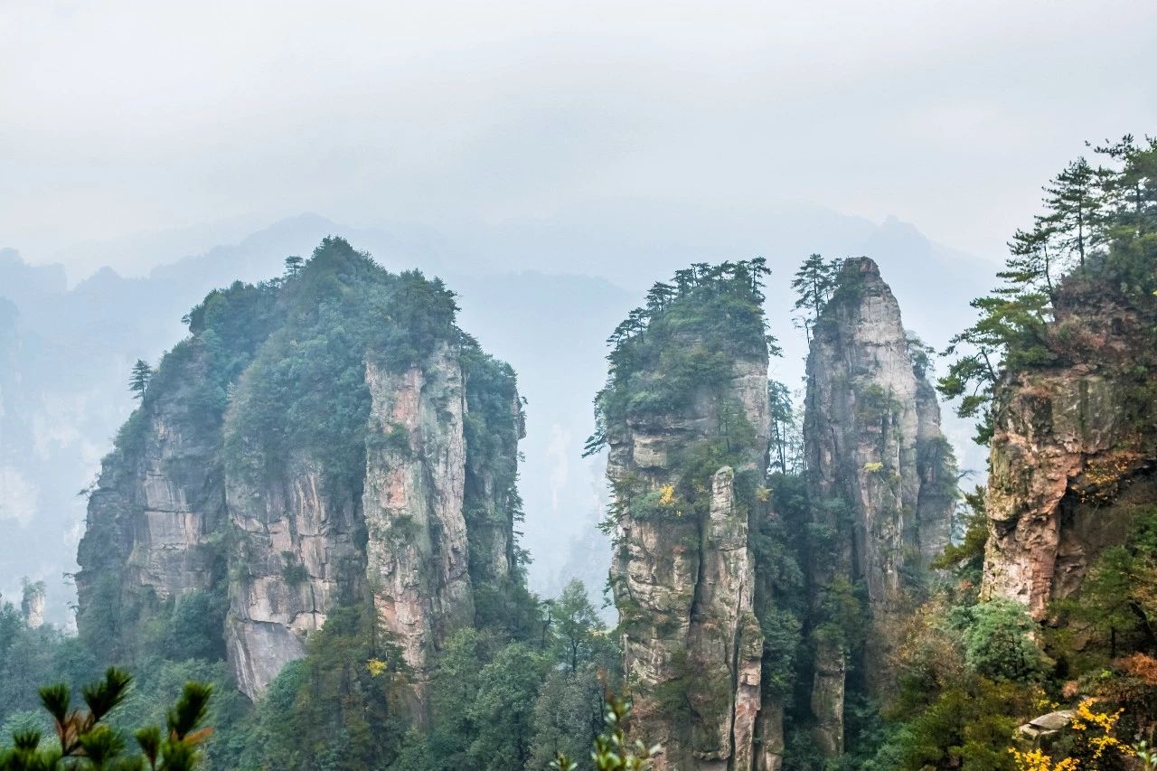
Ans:
<svg viewBox="0 0 1157 771"><path fill-rule="evenodd" d="M456 311L439 279L389 273L344 240L324 240L278 284L277 330L237 383L224 439L230 471L264 479L310 458L330 494L356 493L370 403L366 358L392 372L420 364L462 339ZM190 328L200 323L194 309Z"/></svg>

